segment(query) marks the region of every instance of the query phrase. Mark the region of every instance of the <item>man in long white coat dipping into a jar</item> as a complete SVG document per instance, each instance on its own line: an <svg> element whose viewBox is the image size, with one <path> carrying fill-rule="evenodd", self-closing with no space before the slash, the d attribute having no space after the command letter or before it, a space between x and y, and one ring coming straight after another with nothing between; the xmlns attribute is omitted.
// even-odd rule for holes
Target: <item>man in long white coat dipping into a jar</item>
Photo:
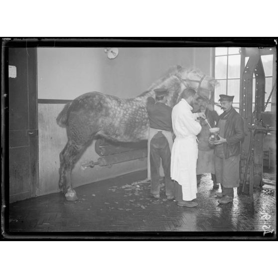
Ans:
<svg viewBox="0 0 278 278"><path fill-rule="evenodd" d="M187 88L172 110L172 126L176 137L171 152L171 178L175 181L174 196L178 206L198 205L192 202L197 193L197 135L202 129L197 118L205 119L205 114L191 112L195 99L196 91Z"/></svg>

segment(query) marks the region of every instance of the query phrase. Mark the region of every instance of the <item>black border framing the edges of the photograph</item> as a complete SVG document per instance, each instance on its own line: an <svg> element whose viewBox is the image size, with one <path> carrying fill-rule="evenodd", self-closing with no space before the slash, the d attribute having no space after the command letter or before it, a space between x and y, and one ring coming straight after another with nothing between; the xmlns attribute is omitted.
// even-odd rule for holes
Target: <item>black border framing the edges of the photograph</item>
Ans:
<svg viewBox="0 0 278 278"><path fill-rule="evenodd" d="M275 47L276 37L11 37L2 38L2 198L1 237L5 240L277 240L263 232L9 232L8 48L9 47ZM276 207L277 209L277 207ZM277 211L276 211L277 212ZM277 217L277 213L275 215ZM277 219L275 221L277 225ZM277 226L275 231L277 231Z"/></svg>

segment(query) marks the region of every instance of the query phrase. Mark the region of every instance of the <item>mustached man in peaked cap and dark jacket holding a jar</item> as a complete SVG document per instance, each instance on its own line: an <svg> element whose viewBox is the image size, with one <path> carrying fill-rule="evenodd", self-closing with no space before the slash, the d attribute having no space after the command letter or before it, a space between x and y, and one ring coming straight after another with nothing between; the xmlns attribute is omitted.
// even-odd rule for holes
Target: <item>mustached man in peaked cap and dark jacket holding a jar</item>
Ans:
<svg viewBox="0 0 278 278"><path fill-rule="evenodd" d="M234 187L239 187L241 141L244 139L243 119L233 108L234 96L220 95L223 113L219 116L217 127L219 140L209 142L215 147L216 180L221 183L222 192L216 192L220 204L233 201Z"/></svg>

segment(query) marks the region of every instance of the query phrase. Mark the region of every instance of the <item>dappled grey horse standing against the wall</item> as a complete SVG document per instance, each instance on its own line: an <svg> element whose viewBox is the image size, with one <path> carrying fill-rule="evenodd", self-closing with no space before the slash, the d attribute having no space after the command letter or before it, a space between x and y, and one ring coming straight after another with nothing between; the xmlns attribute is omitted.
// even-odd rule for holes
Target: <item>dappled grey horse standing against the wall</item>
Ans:
<svg viewBox="0 0 278 278"><path fill-rule="evenodd" d="M93 139L103 137L115 142L138 142L148 138L146 100L155 97L154 89L166 88L166 105L173 107L186 87L208 97L208 92L214 90L216 83L214 78L205 76L200 70L174 66L135 98L120 99L89 92L67 103L56 119L59 126L67 129L68 141L60 153L59 169L59 188L66 199L78 199L72 187L71 172Z"/></svg>

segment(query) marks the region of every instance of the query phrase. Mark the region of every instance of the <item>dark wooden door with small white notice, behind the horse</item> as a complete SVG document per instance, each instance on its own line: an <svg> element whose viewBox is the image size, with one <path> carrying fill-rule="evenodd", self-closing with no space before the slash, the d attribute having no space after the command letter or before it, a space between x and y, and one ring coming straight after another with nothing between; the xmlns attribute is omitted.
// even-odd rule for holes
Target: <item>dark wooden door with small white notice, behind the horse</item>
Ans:
<svg viewBox="0 0 278 278"><path fill-rule="evenodd" d="M38 187L36 48L8 48L8 65L9 202L14 202L34 197Z"/></svg>

